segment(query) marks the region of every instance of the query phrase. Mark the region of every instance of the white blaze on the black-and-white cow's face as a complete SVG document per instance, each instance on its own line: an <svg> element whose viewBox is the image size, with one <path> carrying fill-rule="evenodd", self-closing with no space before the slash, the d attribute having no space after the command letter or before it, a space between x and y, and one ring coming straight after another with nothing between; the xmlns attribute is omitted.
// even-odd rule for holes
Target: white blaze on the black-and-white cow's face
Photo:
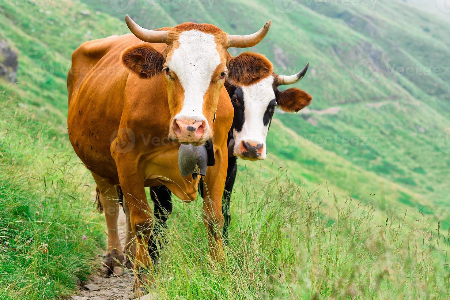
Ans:
<svg viewBox="0 0 450 300"><path fill-rule="evenodd" d="M261 159L266 158L266 137L269 124L264 125L264 113L270 101L275 99L274 76L255 84L241 87L244 95L244 124L242 130L233 129L234 152L239 152L242 141L263 144Z"/></svg>

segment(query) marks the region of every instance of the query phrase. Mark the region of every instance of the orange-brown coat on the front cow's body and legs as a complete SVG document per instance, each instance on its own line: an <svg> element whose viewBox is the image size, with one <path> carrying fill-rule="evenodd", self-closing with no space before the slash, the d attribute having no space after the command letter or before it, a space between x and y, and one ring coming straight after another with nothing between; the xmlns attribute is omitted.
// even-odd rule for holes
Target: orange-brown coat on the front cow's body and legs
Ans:
<svg viewBox="0 0 450 300"><path fill-rule="evenodd" d="M96 49L106 49L102 58L92 58L89 49L84 46L72 57L71 75L67 83L69 90L72 90L67 116L68 135L76 154L93 171L101 192L100 201L104 211L108 212L105 214L108 253L112 253L112 249L122 249L117 234L118 201L110 200L118 197L112 190L114 185L121 185L126 207L129 207L130 230L136 239L135 273L139 275L139 269L152 268L147 245L151 233L148 225L153 222L153 214L144 187L164 184L176 197L193 201L197 197L200 178L194 180L192 176L180 176L177 167L179 144L167 142L167 126L176 113L171 105L181 97L175 87L168 86L176 80L166 80L162 72L144 80L126 67L121 54L127 49L137 51L146 45L133 35L112 37L96 41L96 44ZM148 43L148 47L160 53L171 46ZM145 55L137 52L144 65L147 61ZM220 54L221 61L225 63L228 53L222 49ZM130 62L135 61L131 59ZM83 74L72 73L86 68ZM114 76L104 76L101 70L105 69L116 72ZM76 86L78 88L74 88ZM211 256L219 261L224 257L220 237L223 224L221 201L228 166L227 136L234 112L222 86L222 81L211 84L206 96L211 100L205 100L211 109L209 114L205 114L208 121L216 112L216 121L209 124L214 132L212 139L216 164L208 167L207 175L203 177L204 190L207 191L203 204L204 223ZM135 141L127 151L117 147L121 140L118 128L128 128L134 133ZM149 136L152 137L149 143L141 138ZM116 258L120 261L120 257ZM142 276L135 277L136 287L142 284L143 279ZM149 282L151 278L148 278Z"/></svg>

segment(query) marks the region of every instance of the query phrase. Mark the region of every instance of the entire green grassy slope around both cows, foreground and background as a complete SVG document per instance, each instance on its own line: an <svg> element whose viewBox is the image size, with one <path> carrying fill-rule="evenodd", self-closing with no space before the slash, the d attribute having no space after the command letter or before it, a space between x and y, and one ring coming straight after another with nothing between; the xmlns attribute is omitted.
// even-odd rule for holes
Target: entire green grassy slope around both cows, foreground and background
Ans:
<svg viewBox="0 0 450 300"><path fill-rule="evenodd" d="M103 220L68 143L65 80L83 41L128 32L125 13L148 28L211 22L233 34L271 18L253 50L280 74L311 65L296 85L314 96L310 110L276 114L267 161L240 162L228 263L206 256L201 201L177 203L159 296L448 298L450 157L438 133L450 127L450 82L401 74L445 71L445 19L397 0L373 9L293 1L290 12L263 0L129 3L0 5L0 38L19 54L18 83L0 80L2 298L68 295L99 264Z"/></svg>

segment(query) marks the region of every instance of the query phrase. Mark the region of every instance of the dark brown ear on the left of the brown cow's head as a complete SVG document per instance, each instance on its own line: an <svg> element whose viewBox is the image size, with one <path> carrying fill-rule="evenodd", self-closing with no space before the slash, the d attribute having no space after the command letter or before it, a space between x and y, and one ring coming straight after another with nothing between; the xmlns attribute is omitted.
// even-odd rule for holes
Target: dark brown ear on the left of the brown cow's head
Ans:
<svg viewBox="0 0 450 300"><path fill-rule="evenodd" d="M140 78L150 78L162 72L164 56L150 46L133 46L122 53L122 62Z"/></svg>

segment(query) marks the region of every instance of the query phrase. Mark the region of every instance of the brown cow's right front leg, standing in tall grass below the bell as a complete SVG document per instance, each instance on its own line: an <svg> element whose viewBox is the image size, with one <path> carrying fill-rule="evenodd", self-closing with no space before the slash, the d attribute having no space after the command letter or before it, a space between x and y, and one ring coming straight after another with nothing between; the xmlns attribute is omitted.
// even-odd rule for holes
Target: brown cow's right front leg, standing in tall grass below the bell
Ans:
<svg viewBox="0 0 450 300"><path fill-rule="evenodd" d="M211 256L221 262L225 258L222 247L222 195L225 187L228 156L216 153L216 165L208 167L203 180L203 223L207 229L209 252Z"/></svg>

